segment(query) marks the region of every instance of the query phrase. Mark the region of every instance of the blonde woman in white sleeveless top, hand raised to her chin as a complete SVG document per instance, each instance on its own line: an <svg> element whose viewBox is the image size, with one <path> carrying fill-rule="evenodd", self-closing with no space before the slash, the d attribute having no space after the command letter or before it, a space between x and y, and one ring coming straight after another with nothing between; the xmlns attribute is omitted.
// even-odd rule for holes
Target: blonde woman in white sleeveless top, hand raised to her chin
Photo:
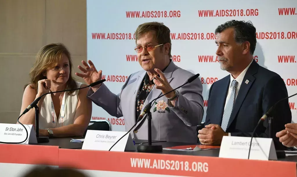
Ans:
<svg viewBox="0 0 297 177"><path fill-rule="evenodd" d="M63 44L43 46L31 69L31 82L24 88L21 113L42 94L87 86L72 78L72 66L70 53ZM92 103L86 97L87 93L88 88L84 88L42 97L37 104L40 109L39 135L50 138L82 136L92 112ZM19 121L34 125L34 109L21 116Z"/></svg>

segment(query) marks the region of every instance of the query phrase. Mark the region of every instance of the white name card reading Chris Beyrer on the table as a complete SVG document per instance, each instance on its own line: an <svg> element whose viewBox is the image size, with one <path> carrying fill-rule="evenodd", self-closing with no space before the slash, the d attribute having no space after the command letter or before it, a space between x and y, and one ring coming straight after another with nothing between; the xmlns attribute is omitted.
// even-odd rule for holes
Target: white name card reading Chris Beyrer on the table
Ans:
<svg viewBox="0 0 297 177"><path fill-rule="evenodd" d="M127 132L87 130L82 149L108 151ZM110 151L135 150L130 133L124 136Z"/></svg>

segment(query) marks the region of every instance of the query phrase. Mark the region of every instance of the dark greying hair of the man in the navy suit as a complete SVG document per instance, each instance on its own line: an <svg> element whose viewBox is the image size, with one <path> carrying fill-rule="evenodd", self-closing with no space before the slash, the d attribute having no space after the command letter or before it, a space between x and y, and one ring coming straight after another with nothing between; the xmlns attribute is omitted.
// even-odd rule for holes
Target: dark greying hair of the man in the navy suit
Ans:
<svg viewBox="0 0 297 177"><path fill-rule="evenodd" d="M215 34L221 33L227 28L234 28L234 40L236 43L242 44L245 41L250 43L250 53L253 55L256 48L256 28L251 21L231 20L220 25L215 30Z"/></svg>

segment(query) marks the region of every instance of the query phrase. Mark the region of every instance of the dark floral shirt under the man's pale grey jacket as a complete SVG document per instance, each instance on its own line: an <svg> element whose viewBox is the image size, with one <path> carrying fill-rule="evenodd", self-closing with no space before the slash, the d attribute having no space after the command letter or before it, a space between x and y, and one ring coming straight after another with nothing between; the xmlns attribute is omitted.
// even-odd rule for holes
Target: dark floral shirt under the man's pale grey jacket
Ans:
<svg viewBox="0 0 297 177"><path fill-rule="evenodd" d="M141 109L143 107L146 98L154 87L154 82L149 80L149 75L146 73L143 79L143 84L140 85L139 91L136 97L136 120L141 113Z"/></svg>

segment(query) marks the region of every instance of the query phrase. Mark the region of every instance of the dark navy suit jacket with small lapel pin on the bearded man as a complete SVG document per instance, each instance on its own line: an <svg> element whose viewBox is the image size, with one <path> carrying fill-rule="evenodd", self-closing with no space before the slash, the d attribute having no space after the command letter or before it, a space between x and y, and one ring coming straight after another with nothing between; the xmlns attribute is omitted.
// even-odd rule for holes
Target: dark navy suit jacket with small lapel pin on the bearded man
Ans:
<svg viewBox="0 0 297 177"><path fill-rule="evenodd" d="M246 84L245 81L249 80ZM205 125L222 124L225 101L230 84L230 75L214 82L209 90ZM238 91L226 132L231 136L251 137L259 119L278 100L288 96L282 78L275 72L259 66L253 61L247 70ZM288 99L279 102L271 113L271 138L276 149L284 149L276 132L291 123L292 113ZM269 138L268 118L257 127L255 137Z"/></svg>

